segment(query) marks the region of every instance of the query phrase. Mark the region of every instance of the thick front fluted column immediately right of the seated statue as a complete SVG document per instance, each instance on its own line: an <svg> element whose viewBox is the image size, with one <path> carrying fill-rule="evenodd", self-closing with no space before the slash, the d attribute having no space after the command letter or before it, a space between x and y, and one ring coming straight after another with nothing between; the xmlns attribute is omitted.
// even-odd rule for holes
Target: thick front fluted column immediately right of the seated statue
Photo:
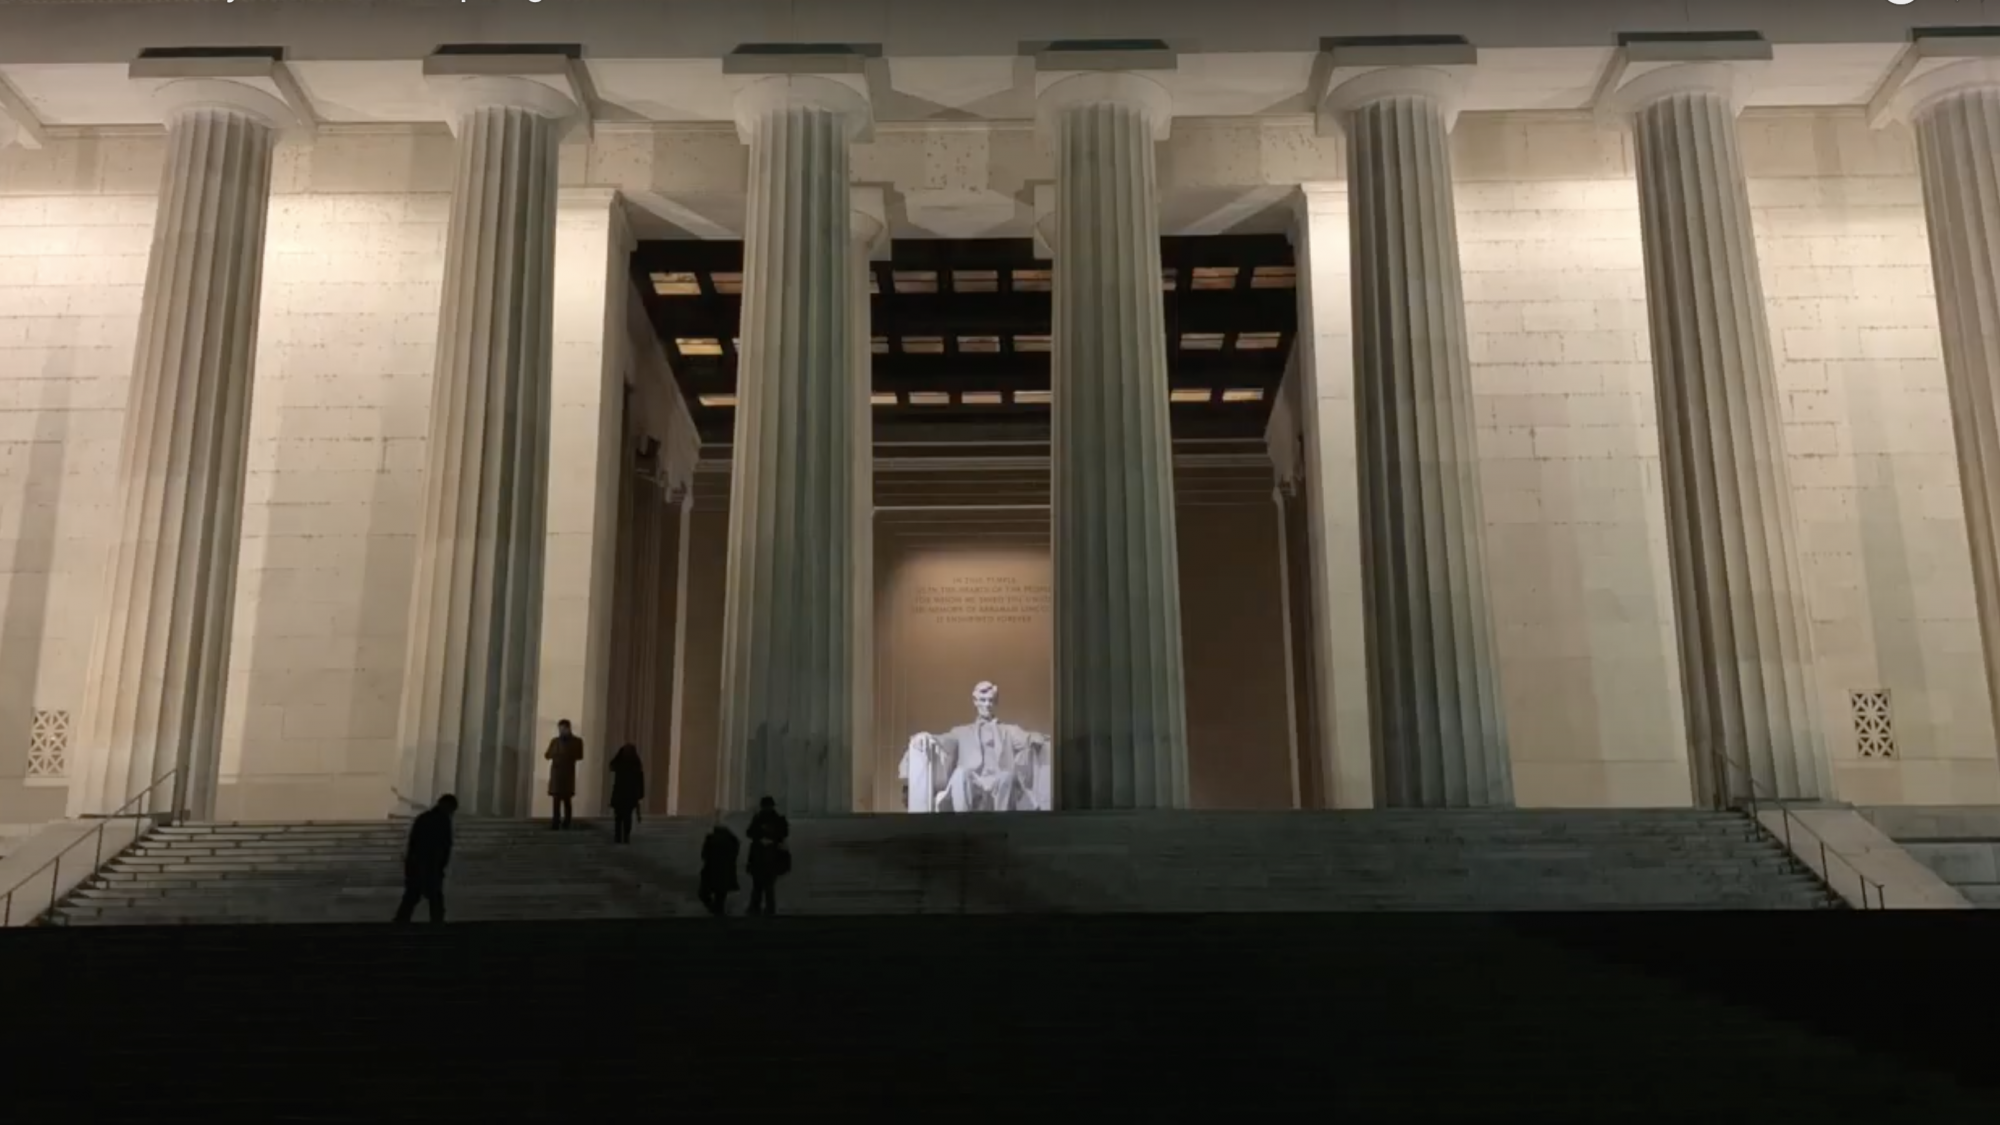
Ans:
<svg viewBox="0 0 2000 1125"><path fill-rule="evenodd" d="M1056 150L1056 803L1180 809L1188 719L1154 164L1172 98L1140 74L1080 74L1042 94L1040 118Z"/></svg>

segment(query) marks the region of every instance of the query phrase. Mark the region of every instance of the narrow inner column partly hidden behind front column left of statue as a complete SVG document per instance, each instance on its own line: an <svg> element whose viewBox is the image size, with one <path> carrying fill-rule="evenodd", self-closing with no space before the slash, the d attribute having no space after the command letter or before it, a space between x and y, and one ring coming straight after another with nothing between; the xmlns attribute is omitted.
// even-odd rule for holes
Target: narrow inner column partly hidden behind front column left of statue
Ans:
<svg viewBox="0 0 2000 1125"><path fill-rule="evenodd" d="M856 204L860 204L856 190ZM872 298L868 276L874 248L886 234L882 222L880 190L872 206L856 206L852 212L852 264L854 278L848 288L848 302L854 312L854 330L848 354L854 356L850 370L850 394L854 410L854 540L848 548L854 583L854 793L862 795L868 807L874 805L874 771L878 747L874 745L874 332Z"/></svg>

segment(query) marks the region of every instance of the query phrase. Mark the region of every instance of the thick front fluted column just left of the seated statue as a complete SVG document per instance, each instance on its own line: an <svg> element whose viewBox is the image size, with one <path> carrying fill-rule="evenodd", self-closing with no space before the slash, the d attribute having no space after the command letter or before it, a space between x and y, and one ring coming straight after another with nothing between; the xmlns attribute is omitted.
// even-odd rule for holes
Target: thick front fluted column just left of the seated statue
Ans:
<svg viewBox="0 0 2000 1125"><path fill-rule="evenodd" d="M742 354L722 629L722 809L854 807L854 244L848 144L868 102L832 78L738 96L750 146Z"/></svg>

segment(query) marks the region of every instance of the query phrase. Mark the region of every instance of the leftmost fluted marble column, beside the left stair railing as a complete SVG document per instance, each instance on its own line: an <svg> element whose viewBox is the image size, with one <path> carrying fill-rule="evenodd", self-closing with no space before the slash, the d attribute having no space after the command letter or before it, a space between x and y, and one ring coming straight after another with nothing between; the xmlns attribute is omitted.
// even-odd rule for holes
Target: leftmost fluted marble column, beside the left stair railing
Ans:
<svg viewBox="0 0 2000 1125"><path fill-rule="evenodd" d="M214 815L242 548L264 224L284 102L226 80L154 96L166 164L154 212L116 534L84 683L70 815Z"/></svg>

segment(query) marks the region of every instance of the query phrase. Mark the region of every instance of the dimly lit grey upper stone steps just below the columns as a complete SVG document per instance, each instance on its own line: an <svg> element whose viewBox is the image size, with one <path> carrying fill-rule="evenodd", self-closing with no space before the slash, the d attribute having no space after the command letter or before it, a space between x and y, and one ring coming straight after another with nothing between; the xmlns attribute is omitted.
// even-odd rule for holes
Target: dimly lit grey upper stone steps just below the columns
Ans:
<svg viewBox="0 0 2000 1125"><path fill-rule="evenodd" d="M630 847L462 819L452 921L700 913L708 821ZM1056 813L794 819L794 915L1816 909L1826 889L1748 819L1662 811ZM154 831L58 909L62 925L378 923L398 823ZM742 905L742 899L736 899Z"/></svg>

